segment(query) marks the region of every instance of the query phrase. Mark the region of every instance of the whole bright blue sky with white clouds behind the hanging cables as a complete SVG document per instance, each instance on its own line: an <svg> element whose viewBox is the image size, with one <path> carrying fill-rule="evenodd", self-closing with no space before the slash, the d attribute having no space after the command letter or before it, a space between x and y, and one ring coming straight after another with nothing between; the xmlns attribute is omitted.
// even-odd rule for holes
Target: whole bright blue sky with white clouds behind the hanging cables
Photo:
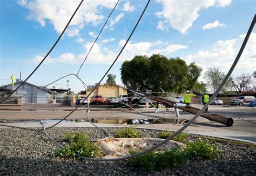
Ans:
<svg viewBox="0 0 256 176"><path fill-rule="evenodd" d="M0 85L11 83L11 75L30 75L50 50L80 1L0 1ZM71 25L50 57L28 82L46 85L77 73L114 1L84 1ZM118 55L147 1L120 1L110 21L87 58L79 76L87 85L97 83ZM227 72L255 14L255 1L151 1L129 44L110 73L120 80L120 66L135 55L161 53L181 57L187 64L219 67ZM233 76L255 71L255 29ZM143 68L142 68L143 69ZM60 80L56 88L83 90L75 77ZM106 78L104 79L105 82ZM203 80L206 83L206 80Z"/></svg>

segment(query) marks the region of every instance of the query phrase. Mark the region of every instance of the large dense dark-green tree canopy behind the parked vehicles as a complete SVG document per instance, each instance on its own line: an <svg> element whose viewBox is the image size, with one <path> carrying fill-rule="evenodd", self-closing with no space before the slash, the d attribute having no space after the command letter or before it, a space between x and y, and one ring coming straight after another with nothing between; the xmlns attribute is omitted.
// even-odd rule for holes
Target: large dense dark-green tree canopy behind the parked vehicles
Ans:
<svg viewBox="0 0 256 176"><path fill-rule="evenodd" d="M163 55L135 56L121 66L121 79L125 86L138 91L151 90L180 93L192 88L201 73L195 63L189 66L179 57L170 58Z"/></svg>

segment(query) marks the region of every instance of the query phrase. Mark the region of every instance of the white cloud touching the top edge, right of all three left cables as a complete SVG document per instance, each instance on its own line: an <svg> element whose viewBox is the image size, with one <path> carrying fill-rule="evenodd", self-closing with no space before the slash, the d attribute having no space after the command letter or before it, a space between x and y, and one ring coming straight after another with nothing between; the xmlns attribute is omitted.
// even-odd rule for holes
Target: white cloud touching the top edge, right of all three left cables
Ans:
<svg viewBox="0 0 256 176"><path fill-rule="evenodd" d="M157 12L156 15L161 18L157 29L166 30L168 25L172 28L186 33L186 31L193 25L193 22L200 16L201 9L207 9L211 6L216 8L225 7L231 1L208 0L208 1L168 1L157 0L158 3L163 4L163 11Z"/></svg>

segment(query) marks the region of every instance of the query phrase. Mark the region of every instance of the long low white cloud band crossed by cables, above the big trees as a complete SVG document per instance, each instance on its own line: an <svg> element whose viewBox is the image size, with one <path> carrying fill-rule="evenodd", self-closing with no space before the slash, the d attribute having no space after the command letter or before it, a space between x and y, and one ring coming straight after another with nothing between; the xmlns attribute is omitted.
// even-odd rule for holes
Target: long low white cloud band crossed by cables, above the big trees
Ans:
<svg viewBox="0 0 256 176"><path fill-rule="evenodd" d="M109 39L110 41L113 38ZM86 63L104 63L111 64L113 60L117 57L120 48L125 44L124 39L119 41L119 48L117 50L111 51L108 48L103 48L100 44L95 44L90 52L90 55L87 57ZM66 64L80 64L83 62L84 58L87 55L87 52L90 50L92 43L83 43L84 48L86 49L85 53L82 53L78 56L73 55L72 53L65 53L56 58L48 57L45 60L45 64L56 64L56 63L66 63ZM165 56L169 55L172 52L177 50L186 49L187 45L180 44L168 44L164 43L161 40L157 40L156 42L138 42L127 43L122 55L118 59L118 62L123 62L124 60L131 60L136 55L147 55L151 56L154 53L161 53ZM39 63L43 59L42 56L36 56L30 61L33 63Z"/></svg>

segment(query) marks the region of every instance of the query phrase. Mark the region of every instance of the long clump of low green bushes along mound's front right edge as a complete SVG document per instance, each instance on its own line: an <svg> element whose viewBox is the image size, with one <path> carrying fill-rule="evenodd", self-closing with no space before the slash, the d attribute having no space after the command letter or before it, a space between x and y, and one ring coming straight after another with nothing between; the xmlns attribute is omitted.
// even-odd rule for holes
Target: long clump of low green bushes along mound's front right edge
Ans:
<svg viewBox="0 0 256 176"><path fill-rule="evenodd" d="M133 167L146 171L162 170L168 167L179 167L187 163L188 159L214 159L219 155L217 146L211 145L208 141L197 139L189 141L186 148L174 147L170 151L149 152L139 157L129 159L128 163ZM131 151L130 154L137 152Z"/></svg>

